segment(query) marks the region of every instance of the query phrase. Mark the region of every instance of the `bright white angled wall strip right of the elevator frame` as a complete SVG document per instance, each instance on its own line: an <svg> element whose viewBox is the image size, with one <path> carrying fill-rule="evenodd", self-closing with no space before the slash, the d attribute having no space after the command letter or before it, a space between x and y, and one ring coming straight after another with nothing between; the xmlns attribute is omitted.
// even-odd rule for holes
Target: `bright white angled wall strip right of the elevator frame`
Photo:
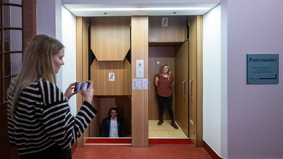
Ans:
<svg viewBox="0 0 283 159"><path fill-rule="evenodd" d="M221 5L216 6L203 16L203 140L222 158L227 158L227 138L222 138L227 132L227 112L222 113L226 103L222 102L227 88L226 52L221 50Z"/></svg>

